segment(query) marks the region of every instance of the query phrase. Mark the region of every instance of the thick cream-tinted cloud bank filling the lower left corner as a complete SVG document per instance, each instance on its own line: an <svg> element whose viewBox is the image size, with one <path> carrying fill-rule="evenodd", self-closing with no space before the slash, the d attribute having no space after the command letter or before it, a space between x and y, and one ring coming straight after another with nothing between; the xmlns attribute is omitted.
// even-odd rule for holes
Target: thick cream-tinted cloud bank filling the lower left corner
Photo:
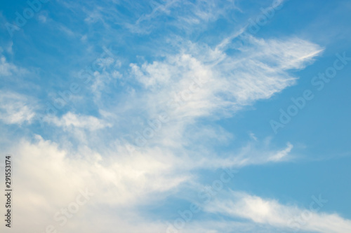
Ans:
<svg viewBox="0 0 351 233"><path fill-rule="evenodd" d="M21 223L14 226L16 232L43 232L46 225L58 226L54 214L85 188L94 196L80 207L79 216L68 220L62 232L76 232L77 226L102 232L116 227L117 222L125 232L138 232L145 225L152 226L147 232L162 230L162 225L146 223L136 215L135 208L159 202L191 177L177 174L174 165L179 161L160 150L133 157L110 150L102 156L87 147L72 152L62 146L36 136L34 142L22 140L11 149L17 170L13 174L17 193L14 213ZM106 220L110 220L107 225Z"/></svg>

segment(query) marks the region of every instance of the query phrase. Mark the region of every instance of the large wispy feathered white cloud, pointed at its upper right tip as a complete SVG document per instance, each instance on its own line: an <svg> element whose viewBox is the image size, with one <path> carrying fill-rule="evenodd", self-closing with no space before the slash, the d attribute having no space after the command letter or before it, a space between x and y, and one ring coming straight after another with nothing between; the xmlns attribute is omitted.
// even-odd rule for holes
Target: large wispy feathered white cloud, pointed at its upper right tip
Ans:
<svg viewBox="0 0 351 233"><path fill-rule="evenodd" d="M296 77L289 70L303 69L322 51L298 38L266 41L249 36L245 43L235 56L190 43L164 61L131 64L135 79L145 87L142 101L147 111L169 111L176 119L190 121L231 114L293 85ZM173 99L180 106L169 110Z"/></svg>

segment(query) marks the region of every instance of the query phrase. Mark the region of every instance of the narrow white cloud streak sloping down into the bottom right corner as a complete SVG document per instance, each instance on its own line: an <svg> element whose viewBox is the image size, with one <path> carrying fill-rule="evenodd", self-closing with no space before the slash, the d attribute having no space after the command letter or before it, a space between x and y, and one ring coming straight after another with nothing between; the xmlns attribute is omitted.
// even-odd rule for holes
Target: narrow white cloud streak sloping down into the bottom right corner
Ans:
<svg viewBox="0 0 351 233"><path fill-rule="evenodd" d="M313 208L317 207L318 204L315 203ZM234 218L247 218L254 223L271 225L282 230L296 230L297 226L292 222L300 216L306 217L298 225L299 230L321 233L347 233L351 230L351 221L341 218L336 213L286 206L275 200L262 199L241 192L230 192L227 198L211 202L206 206L206 211Z"/></svg>

